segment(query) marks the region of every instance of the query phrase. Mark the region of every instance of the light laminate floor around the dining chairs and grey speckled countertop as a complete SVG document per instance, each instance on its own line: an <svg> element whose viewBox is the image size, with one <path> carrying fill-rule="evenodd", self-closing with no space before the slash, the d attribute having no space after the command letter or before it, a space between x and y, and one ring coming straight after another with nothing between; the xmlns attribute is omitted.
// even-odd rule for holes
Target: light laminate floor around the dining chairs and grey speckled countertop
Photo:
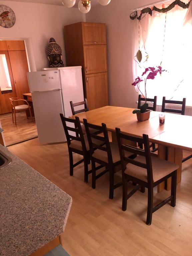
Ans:
<svg viewBox="0 0 192 256"><path fill-rule="evenodd" d="M99 178L96 189L83 182L83 164L69 176L67 144L39 145L33 139L8 148L43 176L72 196L73 203L63 246L70 256L191 256L192 252L192 160L183 164L182 181L177 186L176 207L166 204L145 224L147 189L137 191L121 210L121 187L108 199L108 174ZM187 153L186 153L187 154ZM74 160L81 157L74 154ZM120 173L117 174L120 179ZM130 188L131 188L130 184ZM154 202L169 195L154 192Z"/></svg>

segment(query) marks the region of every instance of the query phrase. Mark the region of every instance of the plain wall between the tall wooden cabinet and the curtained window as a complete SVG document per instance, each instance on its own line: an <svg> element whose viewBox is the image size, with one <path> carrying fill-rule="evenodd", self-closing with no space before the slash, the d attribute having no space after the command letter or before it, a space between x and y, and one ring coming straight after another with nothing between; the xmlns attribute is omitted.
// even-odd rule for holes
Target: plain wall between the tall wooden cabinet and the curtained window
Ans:
<svg viewBox="0 0 192 256"><path fill-rule="evenodd" d="M136 108L138 94L132 77L131 9L152 3L149 0L111 0L86 14L87 22L103 22L107 28L109 102L113 106ZM121 5L120 5L121 3Z"/></svg>

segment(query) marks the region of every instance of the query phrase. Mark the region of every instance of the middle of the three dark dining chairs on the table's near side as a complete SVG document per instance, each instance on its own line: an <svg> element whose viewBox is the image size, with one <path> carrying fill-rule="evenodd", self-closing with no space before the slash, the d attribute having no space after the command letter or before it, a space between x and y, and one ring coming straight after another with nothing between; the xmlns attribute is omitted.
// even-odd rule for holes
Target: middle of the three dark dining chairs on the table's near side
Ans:
<svg viewBox="0 0 192 256"><path fill-rule="evenodd" d="M83 119L85 129L87 132L87 138L90 147L90 154L91 154L91 164L92 164L92 188L95 189L96 187L96 180L100 178L106 172L109 172L109 198L113 199L114 189L118 188L122 185L122 182L114 184L114 174L115 172L120 171L120 155L118 144L114 142L109 142L108 132L106 128L106 124L102 123L102 126L93 125L87 122L86 119ZM99 136L96 134L90 133L90 128L97 129L102 132L104 136ZM103 142L104 145L100 146L99 144L95 144L94 141ZM94 151L94 149L96 149ZM127 152L126 156L130 157L133 154ZM100 172L96 175L96 170L100 168L96 168L95 163L100 164L100 168L105 167L105 170Z"/></svg>

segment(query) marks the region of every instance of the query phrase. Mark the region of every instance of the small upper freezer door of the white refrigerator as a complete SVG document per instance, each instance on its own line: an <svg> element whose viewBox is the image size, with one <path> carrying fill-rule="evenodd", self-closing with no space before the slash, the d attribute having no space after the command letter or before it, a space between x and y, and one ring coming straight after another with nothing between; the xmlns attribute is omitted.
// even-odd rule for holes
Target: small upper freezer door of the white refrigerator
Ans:
<svg viewBox="0 0 192 256"><path fill-rule="evenodd" d="M57 70L28 72L27 76L30 92L49 91L61 88L59 71Z"/></svg>

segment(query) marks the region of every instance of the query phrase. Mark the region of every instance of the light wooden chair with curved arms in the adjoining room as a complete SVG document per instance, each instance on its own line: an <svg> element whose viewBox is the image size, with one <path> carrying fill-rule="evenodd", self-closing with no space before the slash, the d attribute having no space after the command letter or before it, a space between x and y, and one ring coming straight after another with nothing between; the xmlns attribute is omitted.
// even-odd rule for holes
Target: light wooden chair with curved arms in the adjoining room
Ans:
<svg viewBox="0 0 192 256"><path fill-rule="evenodd" d="M30 107L29 103L26 100L23 100L21 98L9 98L9 100L10 100L10 103L11 103L13 123L14 123L13 113L14 113L14 116L15 116L15 125L17 125L17 123L16 123L16 112L20 112L20 111L25 111L26 116L27 116L27 110L29 110L31 121L32 121L31 107ZM27 104L18 105L18 103L20 103L21 101L26 102ZM27 116L27 119L28 119L28 116Z"/></svg>

